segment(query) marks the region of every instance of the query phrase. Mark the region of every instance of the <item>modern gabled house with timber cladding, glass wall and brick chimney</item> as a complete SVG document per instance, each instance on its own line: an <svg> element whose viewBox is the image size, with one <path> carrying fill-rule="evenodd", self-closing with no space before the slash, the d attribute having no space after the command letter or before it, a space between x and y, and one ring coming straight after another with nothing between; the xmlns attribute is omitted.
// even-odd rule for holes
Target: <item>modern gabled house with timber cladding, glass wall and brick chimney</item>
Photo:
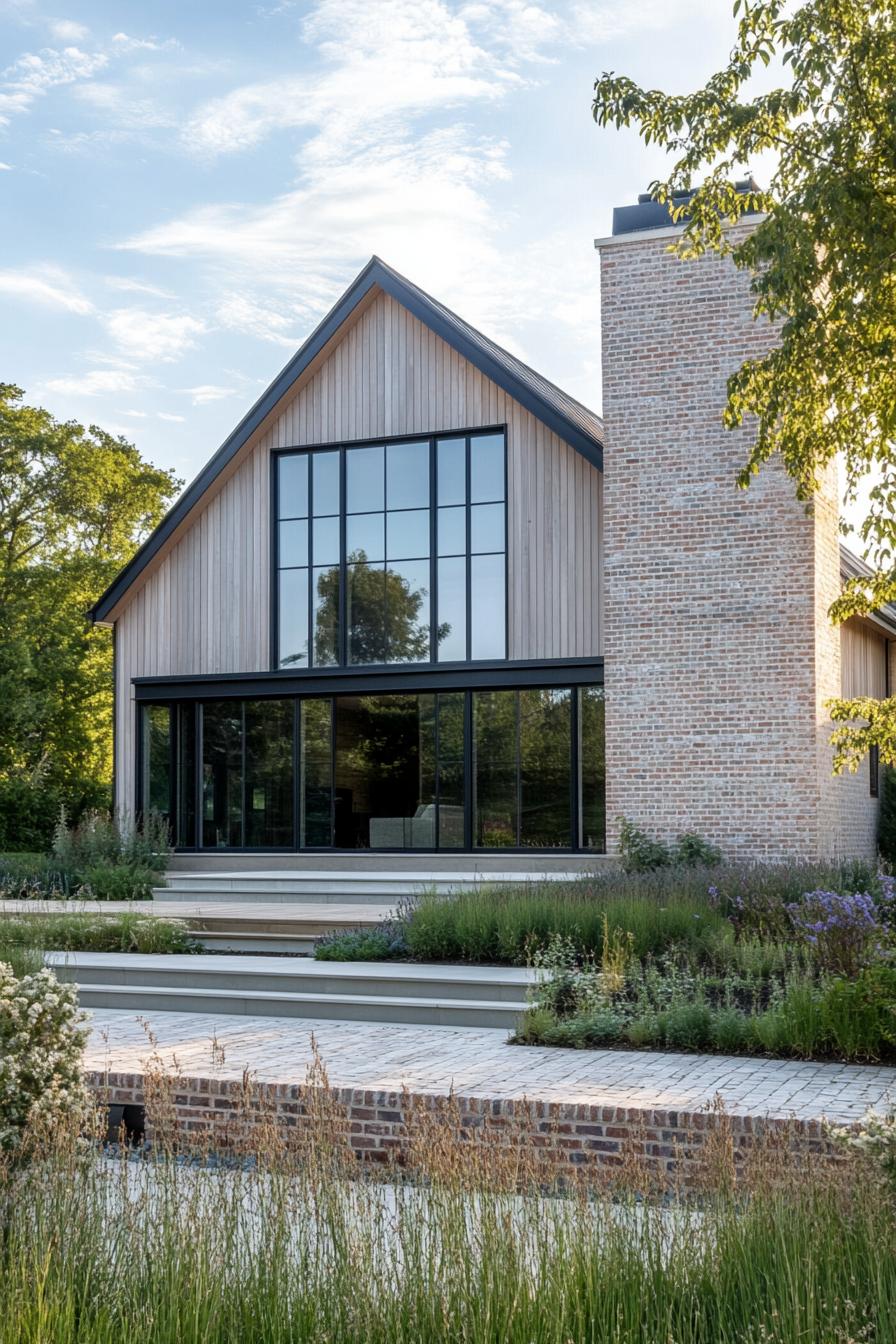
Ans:
<svg viewBox="0 0 896 1344"><path fill-rule="evenodd" d="M658 208L599 242L603 422L364 267L93 610L120 809L206 864L575 863L621 816L873 851L877 763L832 777L825 702L887 694L896 613L827 622L833 476L811 512L775 466L735 488L725 378L770 335Z"/></svg>

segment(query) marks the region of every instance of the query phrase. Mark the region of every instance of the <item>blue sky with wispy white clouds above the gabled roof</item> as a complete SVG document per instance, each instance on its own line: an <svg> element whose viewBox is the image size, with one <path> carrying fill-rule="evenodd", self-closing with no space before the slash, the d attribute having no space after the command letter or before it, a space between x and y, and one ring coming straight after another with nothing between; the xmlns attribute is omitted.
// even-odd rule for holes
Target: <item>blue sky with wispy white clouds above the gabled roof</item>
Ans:
<svg viewBox="0 0 896 1344"><path fill-rule="evenodd" d="M192 477L371 253L599 409L596 235L728 0L0 0L0 380Z"/></svg>

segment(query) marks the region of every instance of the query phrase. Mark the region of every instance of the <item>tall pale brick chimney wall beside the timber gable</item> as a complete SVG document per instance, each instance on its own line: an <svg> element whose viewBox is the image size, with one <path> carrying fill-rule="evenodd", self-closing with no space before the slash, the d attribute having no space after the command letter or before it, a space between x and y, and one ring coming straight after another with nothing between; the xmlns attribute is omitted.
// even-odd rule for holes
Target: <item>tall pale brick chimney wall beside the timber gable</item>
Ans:
<svg viewBox="0 0 896 1344"><path fill-rule="evenodd" d="M723 429L725 383L772 332L729 259L669 242L600 253L609 841L622 814L731 859L814 857L841 845L836 477L811 511L776 464L736 488L751 429Z"/></svg>

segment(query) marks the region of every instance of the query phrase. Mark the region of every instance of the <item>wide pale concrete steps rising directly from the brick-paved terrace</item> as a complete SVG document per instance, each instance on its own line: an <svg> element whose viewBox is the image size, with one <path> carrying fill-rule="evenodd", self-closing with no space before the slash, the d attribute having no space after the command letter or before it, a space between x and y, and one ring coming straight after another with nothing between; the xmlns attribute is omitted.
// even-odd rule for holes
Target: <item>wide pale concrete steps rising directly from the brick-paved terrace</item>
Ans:
<svg viewBox="0 0 896 1344"><path fill-rule="evenodd" d="M85 1007L512 1028L535 974L509 966L48 953Z"/></svg>

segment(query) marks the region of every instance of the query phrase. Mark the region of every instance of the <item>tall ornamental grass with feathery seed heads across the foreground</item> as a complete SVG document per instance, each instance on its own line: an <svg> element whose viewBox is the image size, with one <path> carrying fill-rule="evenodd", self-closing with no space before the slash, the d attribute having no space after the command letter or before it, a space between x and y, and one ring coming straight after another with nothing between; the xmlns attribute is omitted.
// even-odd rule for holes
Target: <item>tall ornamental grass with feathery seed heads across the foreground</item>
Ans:
<svg viewBox="0 0 896 1344"><path fill-rule="evenodd" d="M860 1153L758 1144L735 1179L716 1113L686 1183L635 1150L560 1181L449 1099L364 1172L320 1062L292 1126L244 1078L226 1148L183 1132L179 1083L150 1067L149 1150L58 1125L0 1168L0 1344L892 1339L896 1210Z"/></svg>

